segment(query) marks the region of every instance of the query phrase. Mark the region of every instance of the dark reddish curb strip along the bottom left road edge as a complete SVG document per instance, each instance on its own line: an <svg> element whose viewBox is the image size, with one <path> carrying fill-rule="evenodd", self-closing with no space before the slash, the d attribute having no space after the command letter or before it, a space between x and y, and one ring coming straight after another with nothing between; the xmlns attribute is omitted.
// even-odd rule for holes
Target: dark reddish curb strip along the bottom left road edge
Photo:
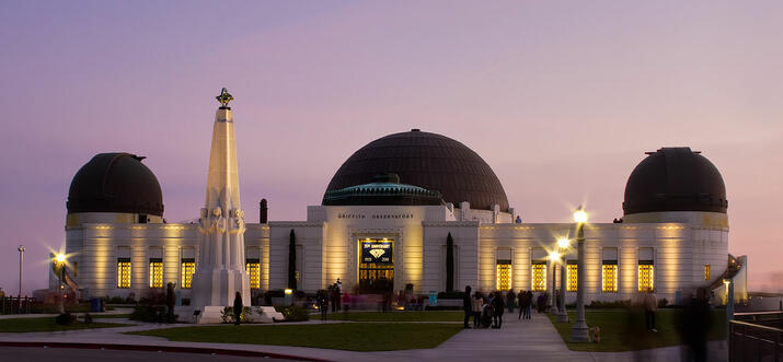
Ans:
<svg viewBox="0 0 783 362"><path fill-rule="evenodd" d="M149 345L110 345L110 343L80 343L80 342L13 342L0 341L0 347L43 347L43 348L74 348L74 349L107 349L120 351L145 351L145 352L175 352L175 353L201 353L222 354L238 357L273 358L280 360L329 362L329 360L299 357L291 354L257 352L249 350L233 350L222 348L204 347L179 347L179 346L149 346Z"/></svg>

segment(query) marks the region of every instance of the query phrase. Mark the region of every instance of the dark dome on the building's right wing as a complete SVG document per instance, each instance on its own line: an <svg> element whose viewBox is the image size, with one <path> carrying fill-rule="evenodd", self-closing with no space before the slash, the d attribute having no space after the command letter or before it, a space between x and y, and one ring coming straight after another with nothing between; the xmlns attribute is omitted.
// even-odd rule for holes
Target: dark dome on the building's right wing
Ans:
<svg viewBox="0 0 783 362"><path fill-rule="evenodd" d="M625 185L625 214L661 211L726 213L726 186L717 167L690 148L647 152Z"/></svg>

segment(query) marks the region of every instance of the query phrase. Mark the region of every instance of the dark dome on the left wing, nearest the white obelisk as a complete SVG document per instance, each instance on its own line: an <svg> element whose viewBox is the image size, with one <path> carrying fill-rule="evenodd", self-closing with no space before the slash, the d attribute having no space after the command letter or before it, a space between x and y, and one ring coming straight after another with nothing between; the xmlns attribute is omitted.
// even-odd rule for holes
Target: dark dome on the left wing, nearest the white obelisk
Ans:
<svg viewBox="0 0 783 362"><path fill-rule="evenodd" d="M163 217L156 175L130 153L99 153L71 180L68 213L123 212Z"/></svg>

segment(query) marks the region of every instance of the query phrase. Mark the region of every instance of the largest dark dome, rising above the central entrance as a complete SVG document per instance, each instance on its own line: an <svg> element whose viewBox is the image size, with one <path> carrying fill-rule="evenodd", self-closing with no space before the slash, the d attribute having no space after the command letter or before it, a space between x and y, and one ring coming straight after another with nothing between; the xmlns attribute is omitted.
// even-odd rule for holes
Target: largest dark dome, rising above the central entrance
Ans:
<svg viewBox="0 0 783 362"><path fill-rule="evenodd" d="M474 209L499 205L508 210L500 180L479 154L448 137L418 129L379 138L356 151L334 174L326 192L372 183L375 176L388 173L400 175L403 184L439 191L457 207L468 201Z"/></svg>

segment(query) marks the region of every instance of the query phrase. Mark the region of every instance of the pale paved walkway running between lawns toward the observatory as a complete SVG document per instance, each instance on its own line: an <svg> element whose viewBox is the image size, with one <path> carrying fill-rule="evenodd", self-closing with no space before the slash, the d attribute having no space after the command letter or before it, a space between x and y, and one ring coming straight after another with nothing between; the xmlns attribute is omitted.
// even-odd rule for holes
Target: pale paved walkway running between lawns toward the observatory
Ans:
<svg viewBox="0 0 783 362"><path fill-rule="evenodd" d="M510 317L508 314L506 314L506 316L509 318L506 318L503 329L465 329L434 349L388 352L353 352L284 346L176 342L159 337L123 335L125 331L192 326L154 324L138 324L136 326L128 327L56 332L0 334L0 341L81 342L146 347L199 347L279 353L331 361L407 361L417 359L438 359L449 361L510 361L523 359L531 361L557 362L613 362L679 361L681 357L680 347L659 348L636 353L574 352L566 348L565 343L546 316L534 314L533 318L529 320L518 320L516 316ZM113 322L127 323L127 319L113 319ZM322 322L311 320L306 324L319 323ZM378 336L369 336L369 338L382 338L382 330L379 330ZM722 343L723 348L721 346ZM726 361L727 353L725 342L712 342L710 349L710 361Z"/></svg>

